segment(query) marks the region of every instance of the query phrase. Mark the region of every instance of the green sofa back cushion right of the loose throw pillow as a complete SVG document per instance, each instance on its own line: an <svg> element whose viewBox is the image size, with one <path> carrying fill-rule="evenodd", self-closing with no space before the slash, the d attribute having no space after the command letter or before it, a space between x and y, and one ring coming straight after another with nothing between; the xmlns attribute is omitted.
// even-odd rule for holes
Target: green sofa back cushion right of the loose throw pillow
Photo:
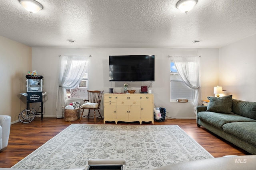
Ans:
<svg viewBox="0 0 256 170"><path fill-rule="evenodd" d="M233 99L232 111L238 115L256 120L256 102Z"/></svg>

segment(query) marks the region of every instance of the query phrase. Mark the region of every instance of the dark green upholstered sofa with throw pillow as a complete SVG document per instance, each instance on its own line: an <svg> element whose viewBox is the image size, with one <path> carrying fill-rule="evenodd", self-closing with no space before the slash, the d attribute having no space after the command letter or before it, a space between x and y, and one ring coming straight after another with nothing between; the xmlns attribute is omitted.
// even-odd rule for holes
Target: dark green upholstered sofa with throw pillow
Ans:
<svg viewBox="0 0 256 170"><path fill-rule="evenodd" d="M232 99L231 95L208 99L208 106L196 107L197 126L256 154L256 102Z"/></svg>

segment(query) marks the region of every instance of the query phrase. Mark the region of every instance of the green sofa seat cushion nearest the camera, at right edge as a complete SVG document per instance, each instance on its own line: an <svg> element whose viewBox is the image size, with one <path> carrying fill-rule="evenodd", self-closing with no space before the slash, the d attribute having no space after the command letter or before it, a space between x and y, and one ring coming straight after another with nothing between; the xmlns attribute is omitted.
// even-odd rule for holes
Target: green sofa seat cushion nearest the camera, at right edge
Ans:
<svg viewBox="0 0 256 170"><path fill-rule="evenodd" d="M256 122L233 122L223 125L223 130L256 145Z"/></svg>

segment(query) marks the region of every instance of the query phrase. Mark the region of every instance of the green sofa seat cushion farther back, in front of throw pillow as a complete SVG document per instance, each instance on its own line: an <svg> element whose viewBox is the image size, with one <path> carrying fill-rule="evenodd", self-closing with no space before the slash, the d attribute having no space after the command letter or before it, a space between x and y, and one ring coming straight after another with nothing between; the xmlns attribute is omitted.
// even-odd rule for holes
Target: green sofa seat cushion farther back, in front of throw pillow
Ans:
<svg viewBox="0 0 256 170"><path fill-rule="evenodd" d="M222 126L226 123L231 122L251 122L255 121L254 119L250 119L248 117L244 117L237 114L229 114L229 113L216 113L211 111L201 111L197 113L197 117L202 121L209 123L219 129L222 129Z"/></svg>

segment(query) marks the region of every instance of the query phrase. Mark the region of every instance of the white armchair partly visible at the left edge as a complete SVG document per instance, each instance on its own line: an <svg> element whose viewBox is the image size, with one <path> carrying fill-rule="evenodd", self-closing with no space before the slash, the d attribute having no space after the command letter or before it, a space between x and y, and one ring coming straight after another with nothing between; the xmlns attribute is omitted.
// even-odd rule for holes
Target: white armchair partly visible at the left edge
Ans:
<svg viewBox="0 0 256 170"><path fill-rule="evenodd" d="M0 150L8 145L11 129L11 117L8 115L0 115Z"/></svg>

